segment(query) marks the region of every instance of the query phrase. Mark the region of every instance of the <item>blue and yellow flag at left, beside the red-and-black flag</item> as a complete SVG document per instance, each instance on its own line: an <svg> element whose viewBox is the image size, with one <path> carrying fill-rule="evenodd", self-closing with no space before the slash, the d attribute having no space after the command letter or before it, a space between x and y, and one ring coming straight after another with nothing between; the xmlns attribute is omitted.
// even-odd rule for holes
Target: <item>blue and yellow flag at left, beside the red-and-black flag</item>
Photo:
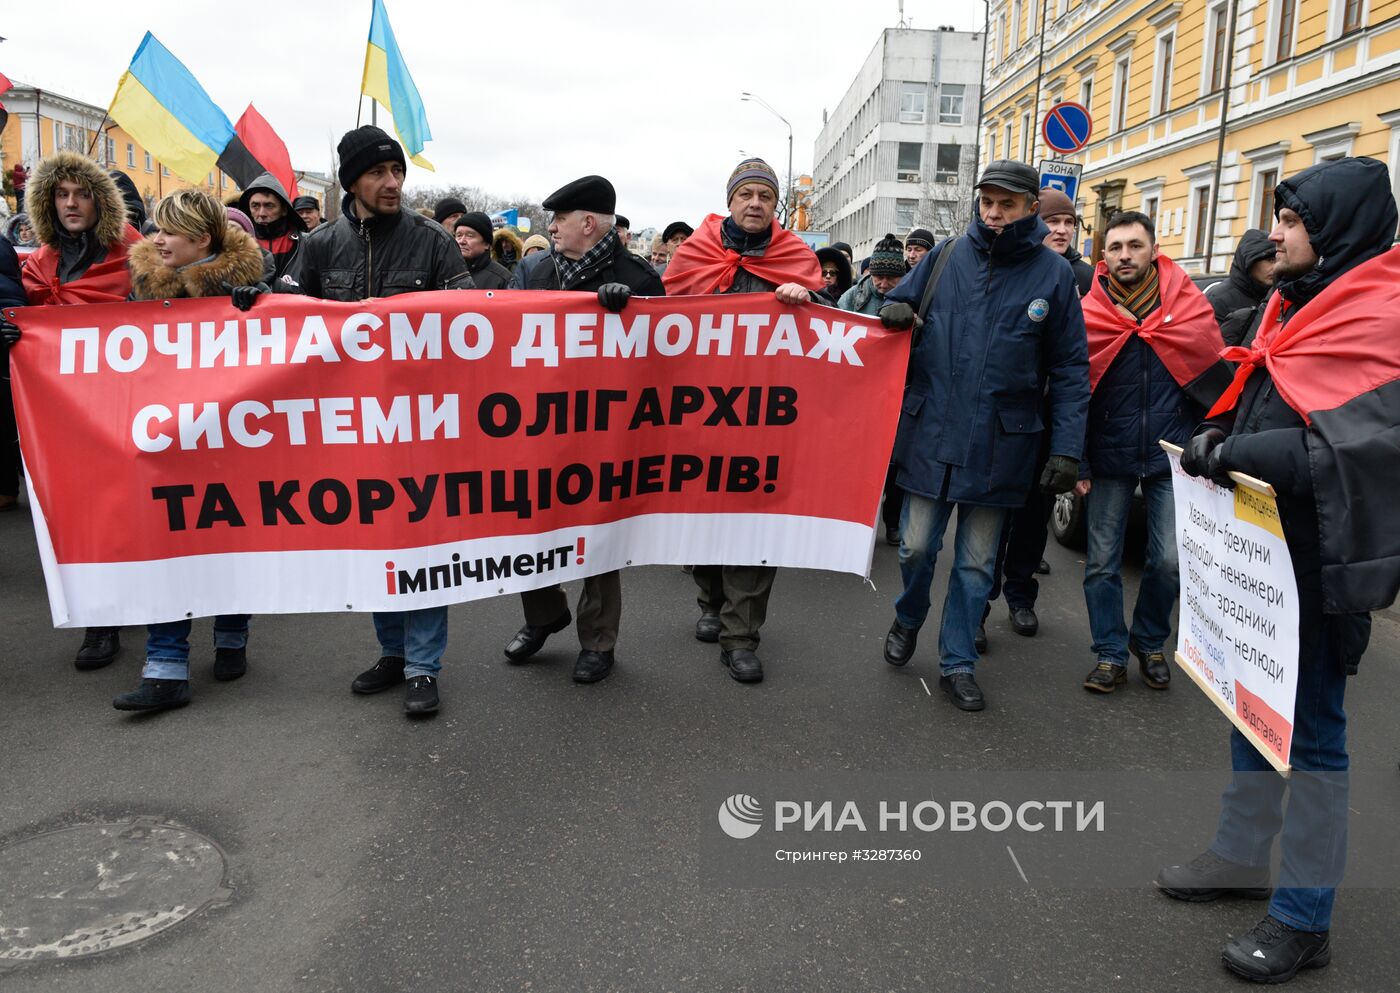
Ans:
<svg viewBox="0 0 1400 993"><path fill-rule="evenodd" d="M189 182L203 182L235 137L218 105L150 31L116 84L108 113Z"/></svg>

